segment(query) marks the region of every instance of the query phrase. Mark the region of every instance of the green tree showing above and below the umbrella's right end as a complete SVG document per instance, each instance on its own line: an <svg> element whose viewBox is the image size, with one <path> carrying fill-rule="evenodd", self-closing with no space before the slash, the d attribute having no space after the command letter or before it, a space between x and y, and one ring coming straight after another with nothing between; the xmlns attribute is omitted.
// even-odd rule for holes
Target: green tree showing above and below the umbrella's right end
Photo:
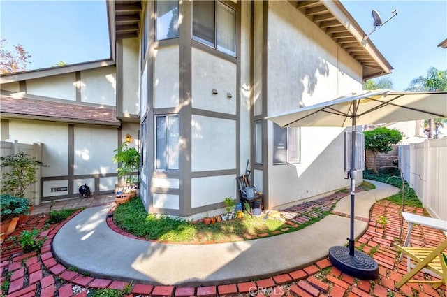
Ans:
<svg viewBox="0 0 447 297"><path fill-rule="evenodd" d="M438 70L431 67L427 71L427 76L419 76L411 80L410 87L406 91L413 92L434 92L447 91L447 70ZM447 123L447 119L430 119L425 121L428 126L428 137L438 138L439 128Z"/></svg>

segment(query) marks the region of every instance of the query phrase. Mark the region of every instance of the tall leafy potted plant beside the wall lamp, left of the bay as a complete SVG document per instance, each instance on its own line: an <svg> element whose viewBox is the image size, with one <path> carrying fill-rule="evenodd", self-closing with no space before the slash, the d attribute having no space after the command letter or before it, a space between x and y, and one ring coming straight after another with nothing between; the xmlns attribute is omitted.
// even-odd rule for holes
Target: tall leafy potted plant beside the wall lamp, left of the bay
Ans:
<svg viewBox="0 0 447 297"><path fill-rule="evenodd" d="M117 192L115 198L117 203L124 203L136 196L135 183L138 180L135 179L133 173L140 168L140 152L135 147L129 147L127 141L122 143L114 152L113 161L120 164L118 167L118 178L124 179L124 187Z"/></svg>

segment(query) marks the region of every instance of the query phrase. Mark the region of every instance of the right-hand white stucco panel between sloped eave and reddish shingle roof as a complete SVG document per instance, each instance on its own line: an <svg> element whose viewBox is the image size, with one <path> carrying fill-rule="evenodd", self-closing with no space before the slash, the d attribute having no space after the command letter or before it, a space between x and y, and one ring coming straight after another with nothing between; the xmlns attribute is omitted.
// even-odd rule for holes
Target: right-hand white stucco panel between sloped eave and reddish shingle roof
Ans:
<svg viewBox="0 0 447 297"><path fill-rule="evenodd" d="M105 106L116 105L115 66L81 72L81 101Z"/></svg>

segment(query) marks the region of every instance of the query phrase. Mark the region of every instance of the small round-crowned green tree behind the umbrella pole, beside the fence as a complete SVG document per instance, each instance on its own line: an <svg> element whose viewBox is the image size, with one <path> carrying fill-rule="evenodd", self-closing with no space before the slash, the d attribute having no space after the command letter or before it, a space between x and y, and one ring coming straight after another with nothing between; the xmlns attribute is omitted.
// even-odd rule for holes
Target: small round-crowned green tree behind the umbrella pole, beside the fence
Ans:
<svg viewBox="0 0 447 297"><path fill-rule="evenodd" d="M386 154L393 150L392 145L399 143L404 137L401 131L396 129L388 129L386 127L379 127L374 130L365 131L365 150L370 150L374 157L373 167L374 172L377 171L377 154Z"/></svg>

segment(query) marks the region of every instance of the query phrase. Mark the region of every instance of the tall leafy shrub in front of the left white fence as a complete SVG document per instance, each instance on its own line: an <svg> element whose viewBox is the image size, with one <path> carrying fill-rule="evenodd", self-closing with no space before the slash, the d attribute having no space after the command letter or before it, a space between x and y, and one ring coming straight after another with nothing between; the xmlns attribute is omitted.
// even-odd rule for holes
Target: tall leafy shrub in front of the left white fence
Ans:
<svg viewBox="0 0 447 297"><path fill-rule="evenodd" d="M29 186L36 182L38 168L45 166L36 157L31 157L21 151L0 157L0 168L9 168L8 171L3 172L0 193L23 198ZM28 214L21 219L21 224L27 222L29 213L32 211L33 205L30 200L28 200L28 208Z"/></svg>

